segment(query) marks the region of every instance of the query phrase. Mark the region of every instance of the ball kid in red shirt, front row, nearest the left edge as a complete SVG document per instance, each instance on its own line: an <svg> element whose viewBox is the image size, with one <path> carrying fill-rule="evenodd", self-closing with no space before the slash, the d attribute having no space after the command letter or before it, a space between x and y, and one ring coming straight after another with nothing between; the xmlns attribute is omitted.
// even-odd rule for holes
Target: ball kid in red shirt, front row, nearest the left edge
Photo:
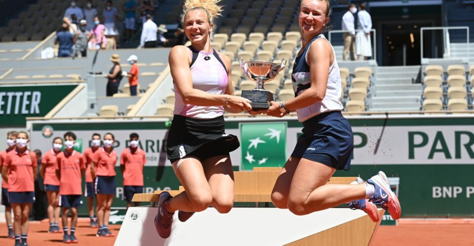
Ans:
<svg viewBox="0 0 474 246"><path fill-rule="evenodd" d="M29 216L35 201L38 161L36 154L28 150L28 142L28 133L18 132L16 149L8 152L1 168L1 177L8 183L8 197L15 217L15 246L28 245Z"/></svg>

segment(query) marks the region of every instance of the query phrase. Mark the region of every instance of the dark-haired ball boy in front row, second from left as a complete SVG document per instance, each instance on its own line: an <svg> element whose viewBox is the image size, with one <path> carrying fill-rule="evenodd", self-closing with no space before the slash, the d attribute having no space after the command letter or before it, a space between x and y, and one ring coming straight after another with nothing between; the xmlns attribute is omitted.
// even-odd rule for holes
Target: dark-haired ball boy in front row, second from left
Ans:
<svg viewBox="0 0 474 246"><path fill-rule="evenodd" d="M56 176L59 180L59 206L63 208L62 224L64 230L63 243L78 243L74 235L78 224L78 208L82 204L81 181L85 171L82 154L74 150L76 145L76 134L66 132L64 134L63 152L57 155L55 165ZM71 233L68 234L68 215L71 210Z"/></svg>

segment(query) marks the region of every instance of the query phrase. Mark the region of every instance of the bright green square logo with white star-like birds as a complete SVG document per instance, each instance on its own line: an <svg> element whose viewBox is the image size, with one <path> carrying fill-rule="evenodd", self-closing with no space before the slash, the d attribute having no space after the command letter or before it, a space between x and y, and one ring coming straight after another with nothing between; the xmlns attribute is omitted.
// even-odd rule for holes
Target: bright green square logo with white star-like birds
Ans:
<svg viewBox="0 0 474 246"><path fill-rule="evenodd" d="M240 124L241 170L277 167L286 162L286 123Z"/></svg>

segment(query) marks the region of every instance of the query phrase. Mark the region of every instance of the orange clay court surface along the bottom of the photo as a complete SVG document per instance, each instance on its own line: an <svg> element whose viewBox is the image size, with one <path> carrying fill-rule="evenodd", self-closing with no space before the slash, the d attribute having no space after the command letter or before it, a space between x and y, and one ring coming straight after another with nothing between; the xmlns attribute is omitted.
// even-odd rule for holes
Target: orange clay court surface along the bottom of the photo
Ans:
<svg viewBox="0 0 474 246"><path fill-rule="evenodd" d="M76 230L79 245L114 245L116 237L98 238L96 228L88 227L88 219L80 219ZM63 234L47 233L48 222L30 222L28 244L31 246L62 245ZM119 226L110 225L117 236ZM398 226L381 226L371 246L472 246L474 245L474 220L400 220ZM0 223L0 245L14 245L7 239L5 223Z"/></svg>

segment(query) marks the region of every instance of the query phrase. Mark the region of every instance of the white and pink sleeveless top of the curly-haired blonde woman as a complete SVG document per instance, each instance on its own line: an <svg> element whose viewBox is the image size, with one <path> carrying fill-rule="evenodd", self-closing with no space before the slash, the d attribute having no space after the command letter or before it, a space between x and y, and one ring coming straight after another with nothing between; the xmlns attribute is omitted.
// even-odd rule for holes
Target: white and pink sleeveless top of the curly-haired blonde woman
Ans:
<svg viewBox="0 0 474 246"><path fill-rule="evenodd" d="M190 65L193 88L212 94L223 94L227 89L227 69L215 50L212 53L191 50L193 60ZM222 106L196 106L183 102L178 88L174 85L174 114L198 119L213 119L224 114Z"/></svg>

